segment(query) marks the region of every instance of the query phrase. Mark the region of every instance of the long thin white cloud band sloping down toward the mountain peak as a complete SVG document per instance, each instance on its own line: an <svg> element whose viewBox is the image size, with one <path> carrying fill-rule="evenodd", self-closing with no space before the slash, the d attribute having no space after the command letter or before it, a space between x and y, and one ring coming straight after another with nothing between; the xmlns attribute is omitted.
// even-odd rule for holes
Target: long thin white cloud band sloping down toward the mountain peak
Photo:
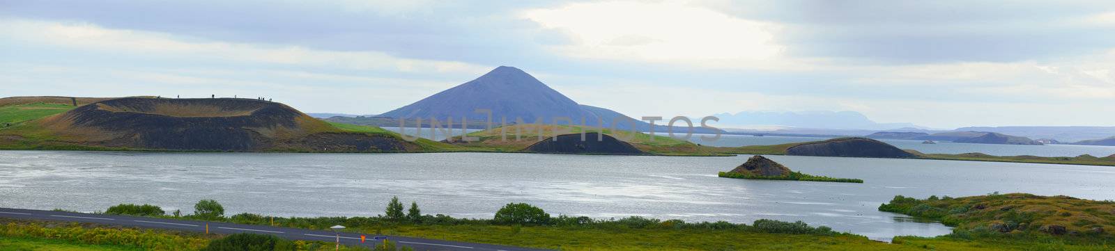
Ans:
<svg viewBox="0 0 1115 251"><path fill-rule="evenodd" d="M254 63L328 67L399 72L483 73L491 67L457 61L398 58L379 51L328 51L297 46L233 43L168 33L107 29L90 23L0 19L0 38L32 44L174 59L233 60Z"/></svg>

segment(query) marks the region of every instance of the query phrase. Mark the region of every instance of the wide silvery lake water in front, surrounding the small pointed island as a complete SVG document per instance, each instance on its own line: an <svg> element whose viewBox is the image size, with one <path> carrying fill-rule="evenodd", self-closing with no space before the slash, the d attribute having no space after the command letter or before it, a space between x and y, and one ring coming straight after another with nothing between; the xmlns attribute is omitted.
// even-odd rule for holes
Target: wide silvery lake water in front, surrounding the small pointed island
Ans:
<svg viewBox="0 0 1115 251"><path fill-rule="evenodd" d="M424 213L465 218L526 202L553 215L802 220L889 240L950 231L876 210L896 194L1115 199L1111 167L772 155L794 170L866 183L716 177L747 158L0 151L0 207L100 211L151 203L192 212L193 202L216 199L230 214L375 215L398 195Z"/></svg>

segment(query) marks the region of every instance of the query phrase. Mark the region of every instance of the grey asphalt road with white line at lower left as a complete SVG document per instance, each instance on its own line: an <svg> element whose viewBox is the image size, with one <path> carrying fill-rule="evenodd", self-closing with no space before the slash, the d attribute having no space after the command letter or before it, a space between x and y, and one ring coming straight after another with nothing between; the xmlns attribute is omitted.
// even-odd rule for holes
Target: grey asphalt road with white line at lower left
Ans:
<svg viewBox="0 0 1115 251"><path fill-rule="evenodd" d="M278 228L278 227L254 225L254 224L236 224L236 223L223 223L223 222L127 217L127 215L58 212L58 211L43 211L43 210L29 210L29 209L0 208L0 218L91 222L91 223L113 224L113 225L138 227L147 229L182 230L182 231L194 231L194 232L205 232L205 228L207 224L209 231L212 233L227 234L227 233L248 232L248 233L272 234L288 240L308 240L308 241L327 241L327 242L333 242L337 240L337 235L332 231ZM387 240L397 242L399 245L408 245L410 248L414 248L415 250L468 250L468 251L539 250L539 249L526 249L526 248L516 248L507 245L481 244L481 243L443 241L443 240L392 237L392 235L376 235L376 234L363 234L366 241L361 243L360 235L361 233L341 232L340 242L341 244L346 245L375 247L375 244L377 243L382 243L382 240L375 240L376 237L386 237Z"/></svg>

